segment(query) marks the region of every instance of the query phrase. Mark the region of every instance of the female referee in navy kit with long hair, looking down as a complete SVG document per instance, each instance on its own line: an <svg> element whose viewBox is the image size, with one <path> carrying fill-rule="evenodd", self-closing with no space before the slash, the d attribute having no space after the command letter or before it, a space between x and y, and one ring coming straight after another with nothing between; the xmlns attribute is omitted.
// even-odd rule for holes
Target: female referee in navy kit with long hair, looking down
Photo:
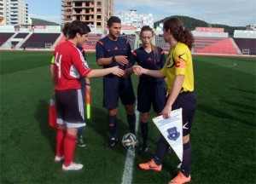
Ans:
<svg viewBox="0 0 256 184"><path fill-rule="evenodd" d="M165 65L165 53L163 49L155 47L152 43L153 34L153 30L149 26L142 27L140 37L143 45L133 51L129 67L137 62L143 68L160 70ZM132 72L132 68L128 70ZM143 74L137 86L137 110L141 112L141 132L143 136L143 146L140 148L140 153L148 150L148 119L151 104L154 112L160 115L166 105L164 79L153 78Z"/></svg>

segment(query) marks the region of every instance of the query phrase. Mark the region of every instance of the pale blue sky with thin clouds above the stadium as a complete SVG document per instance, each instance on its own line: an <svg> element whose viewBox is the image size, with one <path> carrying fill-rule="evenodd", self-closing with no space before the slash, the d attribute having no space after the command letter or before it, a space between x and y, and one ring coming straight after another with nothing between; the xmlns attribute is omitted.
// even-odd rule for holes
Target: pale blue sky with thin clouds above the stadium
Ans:
<svg viewBox="0 0 256 184"><path fill-rule="evenodd" d="M61 0L24 1L28 4L30 17L61 23ZM255 0L115 0L115 12L129 9L136 9L137 14L154 14L154 20L183 15L209 24L256 24Z"/></svg>

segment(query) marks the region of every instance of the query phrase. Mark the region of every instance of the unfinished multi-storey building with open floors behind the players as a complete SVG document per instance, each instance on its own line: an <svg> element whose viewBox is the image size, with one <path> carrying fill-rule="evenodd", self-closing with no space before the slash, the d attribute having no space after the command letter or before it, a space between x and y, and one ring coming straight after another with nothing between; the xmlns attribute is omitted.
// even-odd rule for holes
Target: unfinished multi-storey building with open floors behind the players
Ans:
<svg viewBox="0 0 256 184"><path fill-rule="evenodd" d="M114 0L62 0L63 24L82 20L91 29L106 33L107 20L113 15Z"/></svg>

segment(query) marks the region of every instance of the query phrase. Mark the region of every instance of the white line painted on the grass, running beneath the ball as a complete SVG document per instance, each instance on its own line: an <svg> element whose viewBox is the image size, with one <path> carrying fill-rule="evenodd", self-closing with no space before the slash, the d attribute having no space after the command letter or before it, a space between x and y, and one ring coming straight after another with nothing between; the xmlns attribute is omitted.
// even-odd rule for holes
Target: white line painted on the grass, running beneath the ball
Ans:
<svg viewBox="0 0 256 184"><path fill-rule="evenodd" d="M137 101L136 101L135 109L137 109ZM139 120L139 112L137 110L135 110L135 116L136 116L135 132L137 133L138 120ZM127 150L122 184L131 184L134 158L135 158L135 150Z"/></svg>

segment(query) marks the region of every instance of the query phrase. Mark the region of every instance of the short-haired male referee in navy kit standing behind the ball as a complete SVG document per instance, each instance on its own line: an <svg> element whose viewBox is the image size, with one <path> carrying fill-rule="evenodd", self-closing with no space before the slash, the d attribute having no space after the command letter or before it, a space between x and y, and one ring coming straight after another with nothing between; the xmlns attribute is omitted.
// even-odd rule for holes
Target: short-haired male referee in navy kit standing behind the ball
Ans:
<svg viewBox="0 0 256 184"><path fill-rule="evenodd" d="M96 43L96 60L99 66L108 68L119 66L125 70L131 57L131 45L125 37L120 36L121 20L112 16L108 19L108 36ZM135 134L136 117L134 112L135 95L131 77L119 78L112 74L103 78L103 106L108 109L108 127L110 140L106 147L112 148L118 142L117 109L119 97L125 106L130 132Z"/></svg>

